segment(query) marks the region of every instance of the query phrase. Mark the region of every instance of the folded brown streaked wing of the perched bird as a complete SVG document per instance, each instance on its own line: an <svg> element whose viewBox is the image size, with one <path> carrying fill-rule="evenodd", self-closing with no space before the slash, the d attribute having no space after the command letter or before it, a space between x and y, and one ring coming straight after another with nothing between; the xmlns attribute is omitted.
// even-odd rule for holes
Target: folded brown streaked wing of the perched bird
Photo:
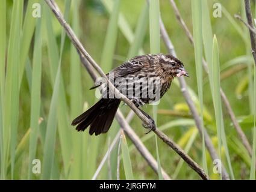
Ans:
<svg viewBox="0 0 256 192"><path fill-rule="evenodd" d="M146 56L136 56L130 59L129 61L124 62L119 67L114 68L109 73L107 73L106 76L110 81L113 81L118 77L128 76L128 74L132 74L132 73L136 73L137 71L140 71L145 65L145 62L148 62L148 59L146 58ZM102 83L104 82L103 81L98 82L90 89L98 88L98 86L101 86Z"/></svg>

